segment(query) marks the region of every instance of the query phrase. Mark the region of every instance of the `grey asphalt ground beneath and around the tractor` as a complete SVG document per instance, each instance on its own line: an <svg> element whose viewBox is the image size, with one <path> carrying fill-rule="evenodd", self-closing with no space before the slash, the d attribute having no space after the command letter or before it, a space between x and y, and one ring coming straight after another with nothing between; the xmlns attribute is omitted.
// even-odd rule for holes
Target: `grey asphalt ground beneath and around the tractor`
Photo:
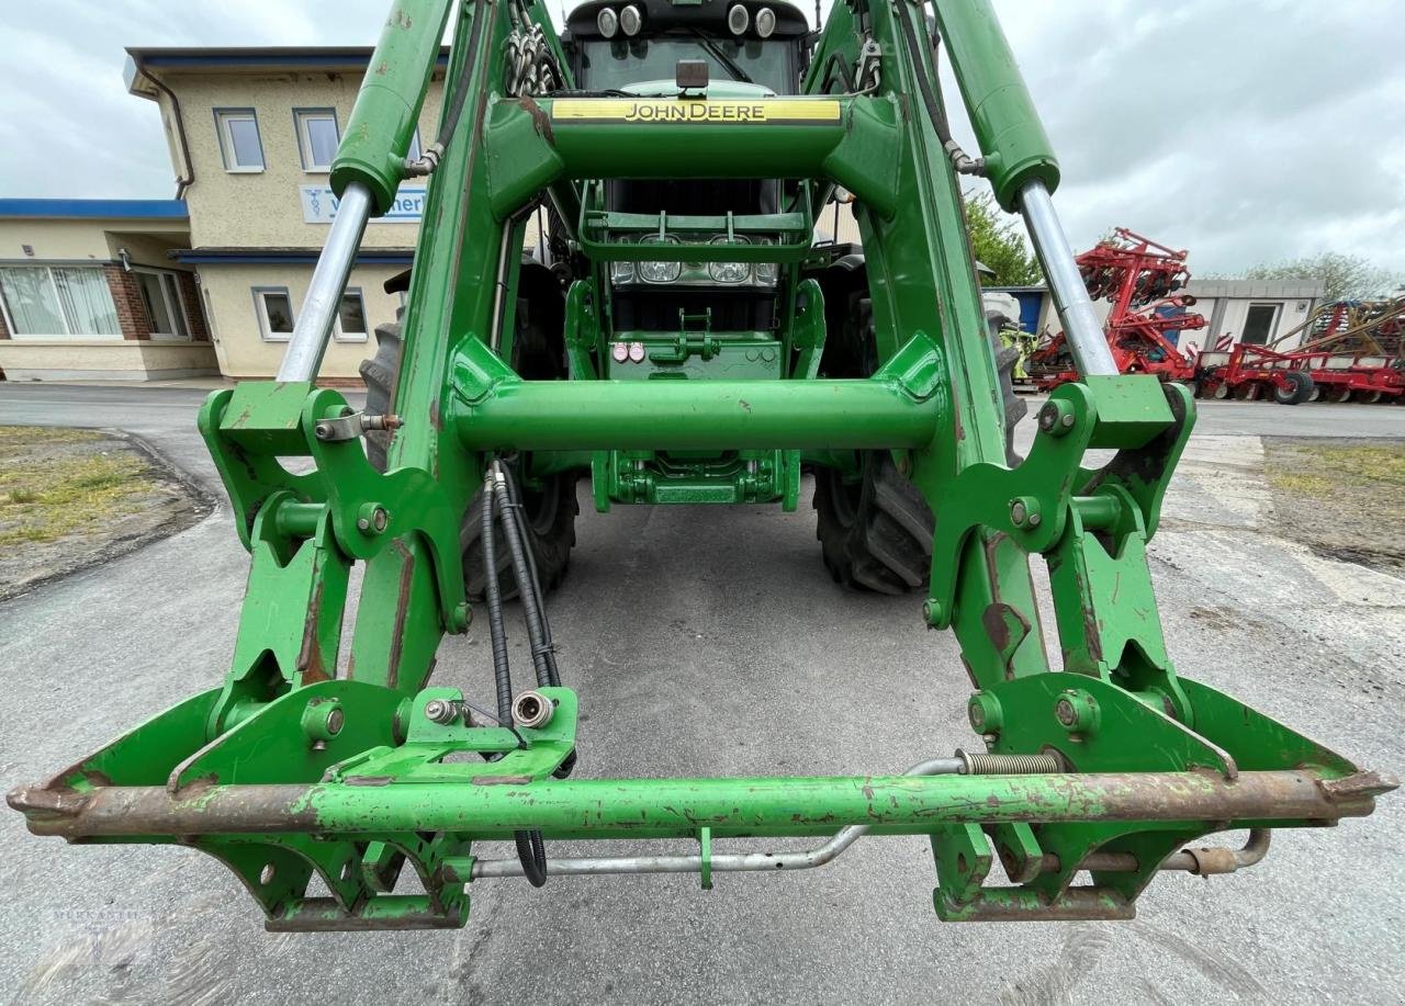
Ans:
<svg viewBox="0 0 1405 1006"><path fill-rule="evenodd" d="M0 423L128 430L218 495L194 433L202 398L0 385ZM1151 549L1177 670L1399 774L1405 580L1259 527L1263 434L1405 437L1405 407L1203 403ZM577 537L551 614L582 695L580 776L887 773L972 742L953 636L924 631L910 599L835 586L808 495L795 514L587 510ZM218 683L246 573L221 507L0 603L0 785ZM479 632L445 642L437 683L486 695L489 680ZM4 811L0 988L21 1003L1399 1002L1402 829L1395 795L1364 821L1276 832L1253 870L1159 878L1131 923L943 925L927 843L898 837L714 891L695 877L475 884L461 932L273 936L198 853L66 846Z"/></svg>

